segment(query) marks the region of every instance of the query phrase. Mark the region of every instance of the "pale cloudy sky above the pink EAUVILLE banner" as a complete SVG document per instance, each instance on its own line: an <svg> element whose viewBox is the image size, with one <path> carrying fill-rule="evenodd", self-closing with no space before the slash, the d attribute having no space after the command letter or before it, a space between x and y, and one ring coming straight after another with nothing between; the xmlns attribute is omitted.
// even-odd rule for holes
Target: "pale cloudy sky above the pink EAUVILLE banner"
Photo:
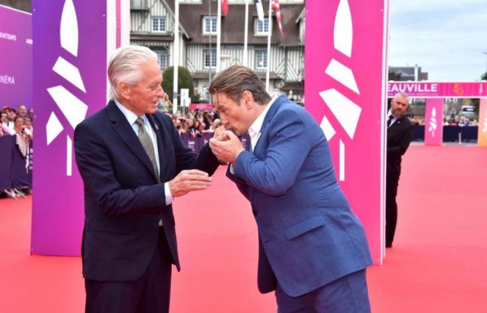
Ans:
<svg viewBox="0 0 487 313"><path fill-rule="evenodd" d="M430 81L486 72L487 0L390 0L389 65L422 67Z"/></svg>

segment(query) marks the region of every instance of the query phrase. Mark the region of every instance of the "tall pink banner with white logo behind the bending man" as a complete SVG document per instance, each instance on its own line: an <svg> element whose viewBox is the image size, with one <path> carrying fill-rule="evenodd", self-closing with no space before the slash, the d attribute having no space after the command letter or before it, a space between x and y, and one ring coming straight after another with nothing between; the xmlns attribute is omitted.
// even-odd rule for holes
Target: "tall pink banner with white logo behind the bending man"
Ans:
<svg viewBox="0 0 487 313"><path fill-rule="evenodd" d="M306 1L306 109L330 144L337 178L383 259L387 0Z"/></svg>

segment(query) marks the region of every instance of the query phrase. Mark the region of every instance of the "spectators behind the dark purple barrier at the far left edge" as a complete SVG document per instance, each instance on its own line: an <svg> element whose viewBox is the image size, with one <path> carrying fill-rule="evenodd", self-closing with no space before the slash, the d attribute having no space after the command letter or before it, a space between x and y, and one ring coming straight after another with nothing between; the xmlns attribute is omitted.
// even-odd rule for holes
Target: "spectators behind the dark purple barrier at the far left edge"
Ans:
<svg viewBox="0 0 487 313"><path fill-rule="evenodd" d="M34 138L33 116L33 109L27 110L24 105L19 105L16 109L3 106L0 111L0 138L15 136L16 146L24 158L29 154L29 146ZM0 151L0 153L6 152ZM18 189L9 189L3 192L12 198L24 196L24 193Z"/></svg>

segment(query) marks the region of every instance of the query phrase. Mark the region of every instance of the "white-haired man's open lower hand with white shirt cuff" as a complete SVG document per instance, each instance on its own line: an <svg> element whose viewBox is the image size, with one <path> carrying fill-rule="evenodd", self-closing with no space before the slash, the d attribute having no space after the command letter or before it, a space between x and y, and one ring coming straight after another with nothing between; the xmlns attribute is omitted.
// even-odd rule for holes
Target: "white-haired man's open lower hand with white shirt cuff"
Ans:
<svg viewBox="0 0 487 313"><path fill-rule="evenodd" d="M182 170L169 182L173 198L186 195L190 191L205 190L211 185L211 177L202 170Z"/></svg>

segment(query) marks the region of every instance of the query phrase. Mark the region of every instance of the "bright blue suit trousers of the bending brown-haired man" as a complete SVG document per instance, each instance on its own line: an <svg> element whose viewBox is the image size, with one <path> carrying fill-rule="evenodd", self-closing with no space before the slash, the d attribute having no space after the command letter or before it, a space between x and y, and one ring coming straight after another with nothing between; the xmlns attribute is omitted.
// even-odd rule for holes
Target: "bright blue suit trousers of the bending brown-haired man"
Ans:
<svg viewBox="0 0 487 313"><path fill-rule="evenodd" d="M278 313L370 313L365 269L299 297L288 296L278 283L276 300Z"/></svg>

